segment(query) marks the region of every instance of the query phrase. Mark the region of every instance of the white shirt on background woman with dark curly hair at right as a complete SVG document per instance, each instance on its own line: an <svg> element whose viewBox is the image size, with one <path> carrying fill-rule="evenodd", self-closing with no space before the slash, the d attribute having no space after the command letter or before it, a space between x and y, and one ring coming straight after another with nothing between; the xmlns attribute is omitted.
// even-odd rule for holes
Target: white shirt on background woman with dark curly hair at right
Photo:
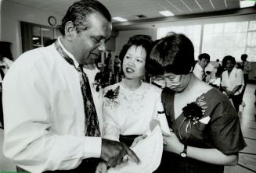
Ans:
<svg viewBox="0 0 256 173"><path fill-rule="evenodd" d="M228 74L228 70L222 72L222 87L226 87L227 90L232 91L238 85L242 85L242 87L240 87L240 90L237 90L234 95L240 94L243 90L244 81L242 69L236 69L236 67L234 67L230 74Z"/></svg>

